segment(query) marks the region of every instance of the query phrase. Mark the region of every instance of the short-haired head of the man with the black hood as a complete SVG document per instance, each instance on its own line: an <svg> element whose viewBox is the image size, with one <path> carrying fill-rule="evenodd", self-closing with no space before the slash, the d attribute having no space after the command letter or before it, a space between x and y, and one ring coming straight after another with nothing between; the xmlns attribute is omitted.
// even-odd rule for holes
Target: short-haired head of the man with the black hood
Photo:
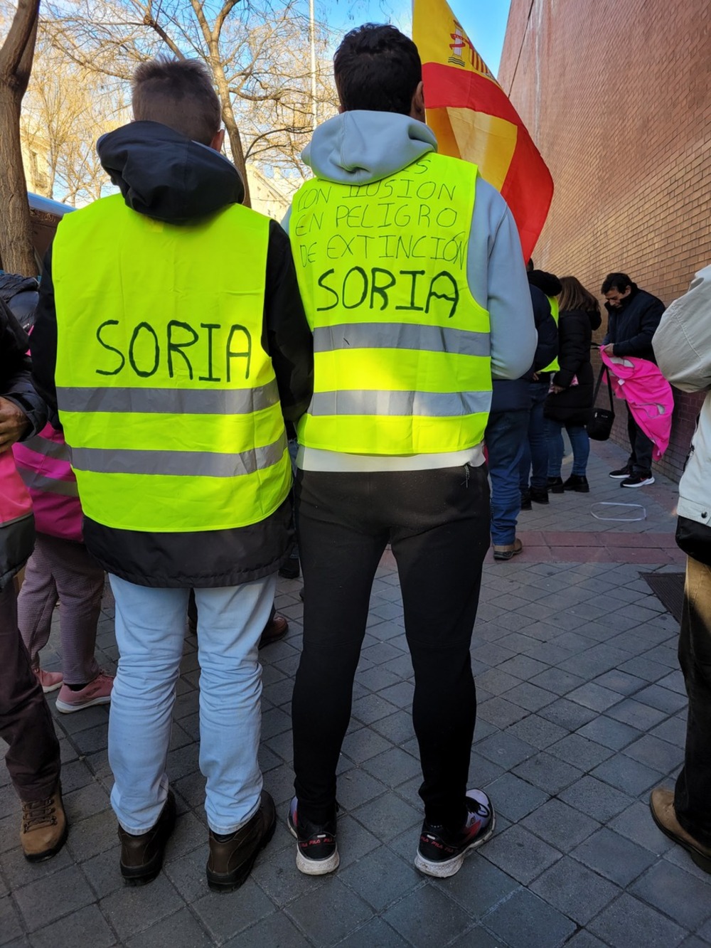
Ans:
<svg viewBox="0 0 711 948"><path fill-rule="evenodd" d="M203 145L220 130L220 100L208 67L198 60L158 56L141 63L131 89L137 121L159 121Z"/></svg>

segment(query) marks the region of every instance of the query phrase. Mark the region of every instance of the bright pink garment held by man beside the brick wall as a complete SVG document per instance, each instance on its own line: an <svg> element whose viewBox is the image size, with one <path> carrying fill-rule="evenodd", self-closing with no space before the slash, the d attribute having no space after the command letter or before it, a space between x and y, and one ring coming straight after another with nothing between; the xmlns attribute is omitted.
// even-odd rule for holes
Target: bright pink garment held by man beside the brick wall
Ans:
<svg viewBox="0 0 711 948"><path fill-rule="evenodd" d="M602 350L600 357L610 369L613 392L627 401L632 417L654 445L653 460L659 461L671 435L671 386L659 367L646 358L608 356Z"/></svg>

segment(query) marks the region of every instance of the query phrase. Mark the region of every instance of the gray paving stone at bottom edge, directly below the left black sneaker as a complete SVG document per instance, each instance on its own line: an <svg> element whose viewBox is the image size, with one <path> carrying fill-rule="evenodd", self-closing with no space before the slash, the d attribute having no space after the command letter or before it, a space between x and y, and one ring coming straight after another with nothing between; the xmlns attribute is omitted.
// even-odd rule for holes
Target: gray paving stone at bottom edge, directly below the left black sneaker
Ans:
<svg viewBox="0 0 711 948"><path fill-rule="evenodd" d="M291 902L287 916L316 945L332 945L371 918L370 907L337 876Z"/></svg>

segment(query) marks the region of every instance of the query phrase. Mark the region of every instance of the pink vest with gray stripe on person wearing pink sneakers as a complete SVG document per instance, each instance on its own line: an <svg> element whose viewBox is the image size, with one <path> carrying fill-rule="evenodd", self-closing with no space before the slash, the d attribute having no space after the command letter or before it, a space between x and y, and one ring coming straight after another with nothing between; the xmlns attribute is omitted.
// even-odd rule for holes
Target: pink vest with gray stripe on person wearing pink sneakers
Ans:
<svg viewBox="0 0 711 948"><path fill-rule="evenodd" d="M62 431L46 425L12 450L32 498L37 530L81 543L82 504Z"/></svg>

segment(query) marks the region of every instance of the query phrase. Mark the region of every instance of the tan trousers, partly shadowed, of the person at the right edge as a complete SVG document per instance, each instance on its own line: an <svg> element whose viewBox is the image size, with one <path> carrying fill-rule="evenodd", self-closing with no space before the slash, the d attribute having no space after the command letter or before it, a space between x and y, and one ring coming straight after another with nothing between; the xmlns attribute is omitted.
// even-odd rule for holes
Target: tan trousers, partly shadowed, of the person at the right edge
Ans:
<svg viewBox="0 0 711 948"><path fill-rule="evenodd" d="M711 566L691 556L686 558L679 664L689 707L674 810L684 830L711 847Z"/></svg>

